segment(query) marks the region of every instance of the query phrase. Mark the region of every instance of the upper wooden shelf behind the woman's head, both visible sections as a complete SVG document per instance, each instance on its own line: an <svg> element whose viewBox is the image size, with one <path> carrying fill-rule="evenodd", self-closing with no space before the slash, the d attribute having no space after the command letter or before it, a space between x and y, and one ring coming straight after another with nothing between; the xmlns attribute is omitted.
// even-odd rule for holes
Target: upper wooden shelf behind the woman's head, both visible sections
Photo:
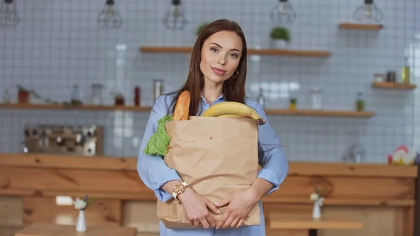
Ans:
<svg viewBox="0 0 420 236"><path fill-rule="evenodd" d="M140 47L140 51L143 53L191 53L193 48L191 47L155 47L155 46L143 46ZM249 55L278 55L278 56L290 56L290 57L329 57L331 55L328 51L316 51L316 50L288 50L288 49L253 49L248 48Z"/></svg>

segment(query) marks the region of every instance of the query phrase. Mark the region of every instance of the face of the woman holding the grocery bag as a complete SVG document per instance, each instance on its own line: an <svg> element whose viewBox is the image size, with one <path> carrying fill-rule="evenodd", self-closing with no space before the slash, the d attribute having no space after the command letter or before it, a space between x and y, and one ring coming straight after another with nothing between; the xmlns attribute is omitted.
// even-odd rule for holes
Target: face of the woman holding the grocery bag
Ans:
<svg viewBox="0 0 420 236"><path fill-rule="evenodd" d="M237 70L242 55L241 38L234 32L221 31L211 35L202 46L200 69L204 80L223 83Z"/></svg>

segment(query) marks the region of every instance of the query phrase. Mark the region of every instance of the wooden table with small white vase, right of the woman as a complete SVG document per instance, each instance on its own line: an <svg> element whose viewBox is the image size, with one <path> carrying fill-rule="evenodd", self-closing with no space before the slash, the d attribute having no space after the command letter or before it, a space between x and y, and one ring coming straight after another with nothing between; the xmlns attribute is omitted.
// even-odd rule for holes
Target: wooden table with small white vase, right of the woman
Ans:
<svg viewBox="0 0 420 236"><path fill-rule="evenodd" d="M309 236L316 236L318 230L356 230L363 228L363 223L342 217L314 219L311 215L269 214L269 227L277 230L308 230Z"/></svg>

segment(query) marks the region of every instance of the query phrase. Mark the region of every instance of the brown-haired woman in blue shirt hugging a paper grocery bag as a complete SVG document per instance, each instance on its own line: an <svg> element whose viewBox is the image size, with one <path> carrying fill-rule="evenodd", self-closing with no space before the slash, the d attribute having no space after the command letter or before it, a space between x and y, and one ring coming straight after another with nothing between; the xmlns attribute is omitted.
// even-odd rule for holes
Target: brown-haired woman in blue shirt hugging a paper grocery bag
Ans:
<svg viewBox="0 0 420 236"><path fill-rule="evenodd" d="M232 101L251 106L267 120L262 106L245 97L246 57L245 36L239 25L229 20L211 22L202 29L193 47L186 83L178 91L156 99L141 142L137 170L142 181L155 191L160 201L165 202L173 197L174 188L180 186L181 178L175 169L167 167L162 158L146 155L142 151L158 126L157 120L173 113L180 92L189 90L191 93L191 116L200 116L212 104ZM279 188L288 173L288 163L268 120L265 125L258 127L258 144L258 159L262 169L249 188L229 200L210 202L187 186L176 198L183 204L190 223L197 228L168 229L160 222L160 235L265 235L260 199ZM257 202L260 206L260 225L242 225ZM209 211L219 214L217 207L225 205L228 208L216 225Z"/></svg>

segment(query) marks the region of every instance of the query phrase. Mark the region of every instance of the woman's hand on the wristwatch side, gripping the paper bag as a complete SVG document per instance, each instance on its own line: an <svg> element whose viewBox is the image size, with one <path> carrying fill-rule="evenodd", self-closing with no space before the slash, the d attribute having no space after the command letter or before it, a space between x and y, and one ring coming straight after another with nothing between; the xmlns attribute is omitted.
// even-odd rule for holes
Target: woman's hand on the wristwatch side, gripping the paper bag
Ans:
<svg viewBox="0 0 420 236"><path fill-rule="evenodd" d="M198 195L191 188L186 188L185 192L181 193L178 198L186 211L188 221L190 221L191 225L199 227L201 223L203 228L214 228L216 226L209 209L214 211L215 214L221 214L221 211L217 209L213 202Z"/></svg>

